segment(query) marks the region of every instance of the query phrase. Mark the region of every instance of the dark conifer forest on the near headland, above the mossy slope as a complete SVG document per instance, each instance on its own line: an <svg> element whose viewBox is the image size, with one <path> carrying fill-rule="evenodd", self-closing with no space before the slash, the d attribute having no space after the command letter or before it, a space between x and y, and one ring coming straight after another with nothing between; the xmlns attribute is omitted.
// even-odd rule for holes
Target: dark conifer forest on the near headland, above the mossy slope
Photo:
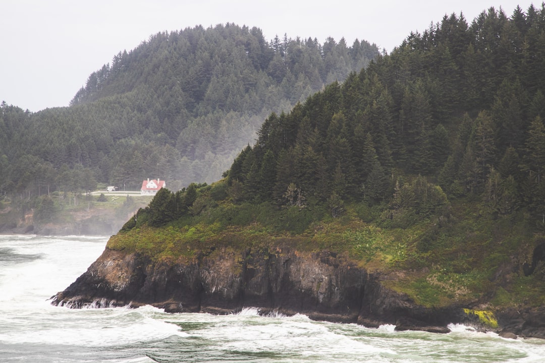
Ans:
<svg viewBox="0 0 545 363"><path fill-rule="evenodd" d="M490 213L538 216L544 93L543 7L511 17L492 8L470 24L445 16L343 84L270 115L228 183L246 200L302 196L334 213L343 200L386 202L395 219L400 208L428 213L446 195L471 195Z"/></svg>

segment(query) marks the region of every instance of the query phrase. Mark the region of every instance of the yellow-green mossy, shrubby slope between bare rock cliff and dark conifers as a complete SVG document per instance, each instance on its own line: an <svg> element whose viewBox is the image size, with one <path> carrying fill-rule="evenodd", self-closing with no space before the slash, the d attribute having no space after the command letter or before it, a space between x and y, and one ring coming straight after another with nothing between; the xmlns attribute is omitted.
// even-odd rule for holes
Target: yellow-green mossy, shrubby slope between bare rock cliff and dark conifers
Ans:
<svg viewBox="0 0 545 363"><path fill-rule="evenodd" d="M407 210L391 217L388 206L362 202L347 204L334 218L318 205L282 208L217 199L224 188L225 180L197 186L187 212L160 226L150 225L152 208L157 208L152 202L107 247L172 263L226 249L328 250L381 273L385 287L427 307L465 304L501 310L545 303L543 273L522 272L541 241L538 233L528 232L523 212L490 217L479 204L461 200L426 218Z"/></svg>

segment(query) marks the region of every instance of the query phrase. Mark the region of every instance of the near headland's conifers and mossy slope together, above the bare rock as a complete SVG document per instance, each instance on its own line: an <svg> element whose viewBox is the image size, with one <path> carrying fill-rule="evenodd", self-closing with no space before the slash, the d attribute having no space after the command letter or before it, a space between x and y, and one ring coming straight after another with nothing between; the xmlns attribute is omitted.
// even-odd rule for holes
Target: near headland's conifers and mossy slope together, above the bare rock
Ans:
<svg viewBox="0 0 545 363"><path fill-rule="evenodd" d="M521 269L545 233L543 19L491 8L411 33L270 114L224 179L158 194L108 246L289 244L347 254L426 306L545 303L543 271Z"/></svg>

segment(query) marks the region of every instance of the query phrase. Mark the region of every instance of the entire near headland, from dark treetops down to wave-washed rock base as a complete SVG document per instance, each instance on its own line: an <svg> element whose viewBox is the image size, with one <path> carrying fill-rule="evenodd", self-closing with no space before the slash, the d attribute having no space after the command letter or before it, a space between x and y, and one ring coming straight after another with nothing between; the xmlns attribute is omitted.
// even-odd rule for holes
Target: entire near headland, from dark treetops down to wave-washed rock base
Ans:
<svg viewBox="0 0 545 363"><path fill-rule="evenodd" d="M348 321L545 337L543 19L445 16L271 114L225 179L161 190L56 303L298 310L284 288Z"/></svg>

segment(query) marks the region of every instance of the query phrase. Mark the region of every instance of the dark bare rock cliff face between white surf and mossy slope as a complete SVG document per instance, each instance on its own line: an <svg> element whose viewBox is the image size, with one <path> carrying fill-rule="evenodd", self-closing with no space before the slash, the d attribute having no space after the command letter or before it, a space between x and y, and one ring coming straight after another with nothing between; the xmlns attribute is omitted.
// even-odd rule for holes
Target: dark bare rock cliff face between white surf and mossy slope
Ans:
<svg viewBox="0 0 545 363"><path fill-rule="evenodd" d="M255 306L263 314L304 313L322 321L367 327L396 324L398 330L437 333L447 333L449 323L473 324L462 307L419 306L381 285L383 277L329 251L222 250L197 254L189 263L167 263L106 248L86 273L53 297L52 304L75 308L150 304L167 312L217 314ZM509 316L504 318L511 322ZM521 327L506 331L539 336L545 320L534 321L535 327L526 326L528 319L522 318Z"/></svg>

